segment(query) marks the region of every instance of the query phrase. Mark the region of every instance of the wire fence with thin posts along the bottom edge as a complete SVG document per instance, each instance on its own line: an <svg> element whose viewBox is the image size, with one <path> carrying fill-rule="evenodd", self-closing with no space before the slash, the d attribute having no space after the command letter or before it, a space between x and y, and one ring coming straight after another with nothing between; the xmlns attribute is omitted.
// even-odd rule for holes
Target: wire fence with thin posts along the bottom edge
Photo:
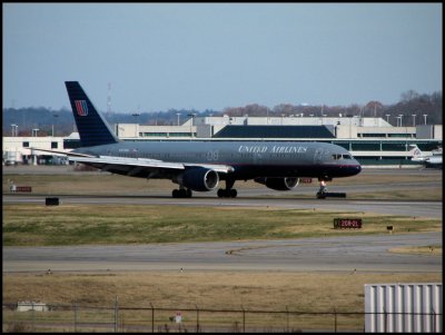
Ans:
<svg viewBox="0 0 445 335"><path fill-rule="evenodd" d="M2 304L3 332L144 332L144 333L274 333L274 332L364 332L363 312L304 312L164 308L81 305L47 305L47 312L18 312L17 304ZM397 313L400 314L400 313ZM411 314L411 313L406 313ZM389 317L392 313L386 313ZM441 321L433 332L442 332L442 314L429 315Z"/></svg>

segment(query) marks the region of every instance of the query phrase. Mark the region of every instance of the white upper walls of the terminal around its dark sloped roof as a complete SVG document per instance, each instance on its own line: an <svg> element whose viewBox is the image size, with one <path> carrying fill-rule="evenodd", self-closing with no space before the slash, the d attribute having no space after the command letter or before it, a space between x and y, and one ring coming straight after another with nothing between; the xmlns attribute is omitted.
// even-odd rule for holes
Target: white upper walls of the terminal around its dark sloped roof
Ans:
<svg viewBox="0 0 445 335"><path fill-rule="evenodd" d="M382 118L360 117L197 117L181 126L117 124L115 132L123 139L214 138L227 126L326 126L338 139L422 138L442 140L442 125L394 127ZM248 128L246 128L248 132ZM269 136L265 136L269 137Z"/></svg>

